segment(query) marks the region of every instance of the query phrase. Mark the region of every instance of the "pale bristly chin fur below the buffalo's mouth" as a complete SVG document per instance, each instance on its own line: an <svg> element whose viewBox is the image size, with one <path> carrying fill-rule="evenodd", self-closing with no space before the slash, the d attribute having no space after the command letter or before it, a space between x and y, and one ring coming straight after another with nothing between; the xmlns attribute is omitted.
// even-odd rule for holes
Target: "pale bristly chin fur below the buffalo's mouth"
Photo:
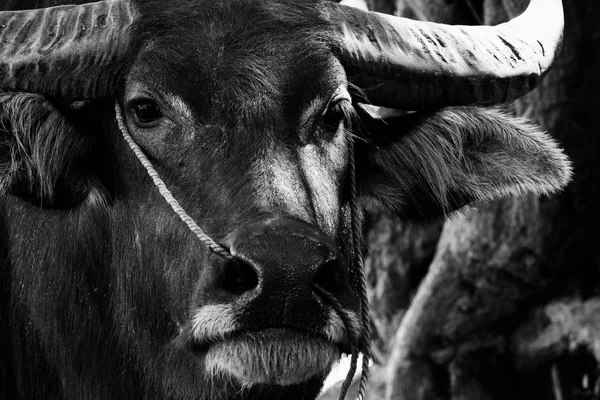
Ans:
<svg viewBox="0 0 600 400"><path fill-rule="evenodd" d="M340 355L339 348L324 339L268 329L215 343L205 362L209 373L233 376L245 386L285 386L325 376Z"/></svg>

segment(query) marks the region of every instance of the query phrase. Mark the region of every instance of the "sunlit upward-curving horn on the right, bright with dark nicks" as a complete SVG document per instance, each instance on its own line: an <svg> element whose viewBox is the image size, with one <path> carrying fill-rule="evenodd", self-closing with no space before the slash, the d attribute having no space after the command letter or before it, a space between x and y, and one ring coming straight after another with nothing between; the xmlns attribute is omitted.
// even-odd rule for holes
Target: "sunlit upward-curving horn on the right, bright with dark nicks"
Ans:
<svg viewBox="0 0 600 400"><path fill-rule="evenodd" d="M497 26L452 26L324 3L351 82L379 106L493 104L534 89L562 44L561 0Z"/></svg>

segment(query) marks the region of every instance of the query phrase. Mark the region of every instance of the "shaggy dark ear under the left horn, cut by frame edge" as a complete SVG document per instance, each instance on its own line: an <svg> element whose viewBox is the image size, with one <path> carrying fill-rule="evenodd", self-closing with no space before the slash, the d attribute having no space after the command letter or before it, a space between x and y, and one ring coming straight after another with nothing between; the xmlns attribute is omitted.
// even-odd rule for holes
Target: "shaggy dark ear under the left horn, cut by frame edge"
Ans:
<svg viewBox="0 0 600 400"><path fill-rule="evenodd" d="M78 157L89 150L76 127L46 98L34 93L0 93L0 194L16 192L51 204ZM69 190L106 204L93 177L78 176ZM61 181L62 180L62 181Z"/></svg>

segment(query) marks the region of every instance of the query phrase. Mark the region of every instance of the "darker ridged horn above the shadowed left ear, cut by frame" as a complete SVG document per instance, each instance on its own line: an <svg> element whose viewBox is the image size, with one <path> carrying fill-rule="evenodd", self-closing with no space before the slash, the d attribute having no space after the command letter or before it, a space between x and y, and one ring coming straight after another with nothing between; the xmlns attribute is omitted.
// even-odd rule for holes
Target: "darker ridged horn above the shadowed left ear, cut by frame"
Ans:
<svg viewBox="0 0 600 400"><path fill-rule="evenodd" d="M109 96L135 17L127 0L0 12L0 91Z"/></svg>

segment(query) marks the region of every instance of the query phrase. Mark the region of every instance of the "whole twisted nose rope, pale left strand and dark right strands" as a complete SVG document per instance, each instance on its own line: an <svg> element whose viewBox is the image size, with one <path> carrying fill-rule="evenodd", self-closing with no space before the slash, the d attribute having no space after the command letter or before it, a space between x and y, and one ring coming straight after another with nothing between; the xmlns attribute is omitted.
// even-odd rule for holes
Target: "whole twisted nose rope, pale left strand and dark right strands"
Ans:
<svg viewBox="0 0 600 400"><path fill-rule="evenodd" d="M125 121L123 119L123 112L119 103L115 103L115 114L117 118L117 125L123 138L129 145L129 148L133 151L137 159L142 163L150 178L154 182L154 185L158 188L158 191L162 195L162 197L166 200L166 202L171 206L173 211L179 216L179 218L190 228L190 230L196 235L196 237L206 245L212 252L218 254L219 256L225 258L228 261L234 261L235 257L227 250L225 247L221 246L217 242L215 242L210 236L208 236L202 228L196 224L196 222L188 215L188 213L181 207L179 202L173 197L173 194L167 189L164 181L158 175L158 172L154 169L154 166L148 160L142 149L137 145L137 143L131 137L129 130L127 129L127 125L125 125ZM323 288L317 286L317 291L320 292L321 296L324 300L326 300L334 311L339 315L342 319L342 322L345 326L346 332L350 339L350 346L352 351L352 357L350 362L350 370L346 375L346 379L342 384L342 388L340 389L340 400L344 400L346 398L346 393L348 392L348 388L352 383L352 379L354 377L354 373L356 372L357 360L358 360L358 352L362 351L363 353L363 362L362 362L362 374L360 378L360 385L358 390L357 400L363 400L367 385L367 380L369 378L369 361L371 359L371 351L370 351L370 337L371 337L371 319L369 317L369 306L368 306L368 297L366 290L366 282L365 282L365 272L364 265L362 260L362 251L360 245L360 222L358 219L358 205L356 201L356 170L354 163L354 140L352 138L349 139L349 153L350 153L350 219L352 221L352 251L353 251L353 271L354 271L354 281L357 286L359 293L359 302L360 302L360 312L361 312L361 331L357 331L352 324L346 313L344 312L343 306L339 303L339 301L329 292L324 290Z"/></svg>

